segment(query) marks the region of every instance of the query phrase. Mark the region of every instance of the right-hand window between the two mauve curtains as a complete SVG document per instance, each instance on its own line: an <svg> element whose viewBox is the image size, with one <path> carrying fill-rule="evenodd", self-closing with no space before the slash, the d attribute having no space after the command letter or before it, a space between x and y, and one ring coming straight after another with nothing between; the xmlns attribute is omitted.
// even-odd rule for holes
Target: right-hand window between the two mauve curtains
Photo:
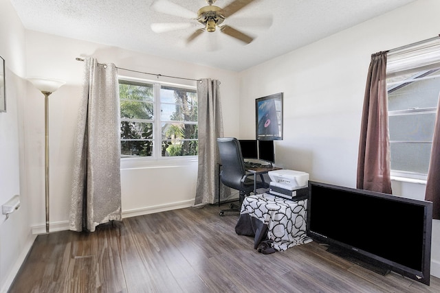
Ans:
<svg viewBox="0 0 440 293"><path fill-rule="evenodd" d="M388 52L391 176L426 180L440 93L440 38Z"/></svg>

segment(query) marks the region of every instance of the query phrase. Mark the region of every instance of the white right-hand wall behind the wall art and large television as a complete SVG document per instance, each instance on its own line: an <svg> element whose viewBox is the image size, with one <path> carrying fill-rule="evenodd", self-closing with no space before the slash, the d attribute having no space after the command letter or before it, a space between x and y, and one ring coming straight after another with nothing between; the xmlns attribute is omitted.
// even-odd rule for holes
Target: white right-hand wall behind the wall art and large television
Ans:
<svg viewBox="0 0 440 293"><path fill-rule="evenodd" d="M258 97L284 93L284 139L277 165L311 180L355 187L360 117L371 54L439 34L440 1L419 0L240 73L240 134L254 138ZM292 36L294 38L294 36ZM424 185L393 183L423 199ZM432 271L440 277L440 221L434 220Z"/></svg>

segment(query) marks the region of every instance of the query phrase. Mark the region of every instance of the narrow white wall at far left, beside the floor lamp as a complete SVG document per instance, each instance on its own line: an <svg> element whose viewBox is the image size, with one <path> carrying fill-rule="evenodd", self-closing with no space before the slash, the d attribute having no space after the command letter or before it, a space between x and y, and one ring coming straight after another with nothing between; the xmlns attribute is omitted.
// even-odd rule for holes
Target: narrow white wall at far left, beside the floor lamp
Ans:
<svg viewBox="0 0 440 293"><path fill-rule="evenodd" d="M19 194L21 208L8 220L0 215L0 292L12 282L34 241L28 221L29 198L23 174L25 30L9 1L0 1L0 56L6 67L6 113L0 113L0 205Z"/></svg>

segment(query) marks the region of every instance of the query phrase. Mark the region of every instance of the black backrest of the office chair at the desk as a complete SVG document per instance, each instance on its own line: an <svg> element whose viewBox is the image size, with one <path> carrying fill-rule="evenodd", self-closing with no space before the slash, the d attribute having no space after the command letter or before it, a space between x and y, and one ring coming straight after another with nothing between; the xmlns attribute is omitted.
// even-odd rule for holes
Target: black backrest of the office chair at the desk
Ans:
<svg viewBox="0 0 440 293"><path fill-rule="evenodd" d="M240 143L233 137L217 139L221 159L221 182L233 189L242 189L241 179L246 174Z"/></svg>

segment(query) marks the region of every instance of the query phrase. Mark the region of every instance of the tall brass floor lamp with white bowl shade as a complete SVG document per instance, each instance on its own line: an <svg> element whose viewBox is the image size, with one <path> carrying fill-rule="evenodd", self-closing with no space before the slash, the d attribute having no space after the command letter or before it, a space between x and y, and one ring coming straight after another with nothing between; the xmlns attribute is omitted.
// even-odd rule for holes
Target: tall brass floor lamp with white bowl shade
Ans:
<svg viewBox="0 0 440 293"><path fill-rule="evenodd" d="M45 99L44 130L45 130L45 202L46 202L46 233L49 233L49 95L59 89L65 82L62 80L49 80L47 78L28 78L34 86L43 93Z"/></svg>

